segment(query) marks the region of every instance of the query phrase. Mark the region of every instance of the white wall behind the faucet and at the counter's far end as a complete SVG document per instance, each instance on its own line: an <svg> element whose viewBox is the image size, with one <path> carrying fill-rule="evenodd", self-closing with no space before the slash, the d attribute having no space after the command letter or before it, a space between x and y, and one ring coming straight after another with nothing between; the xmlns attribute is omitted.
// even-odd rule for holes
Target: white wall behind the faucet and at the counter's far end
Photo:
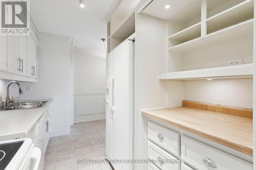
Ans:
<svg viewBox="0 0 256 170"><path fill-rule="evenodd" d="M70 133L70 37L38 33L38 82L20 82L24 94L21 100L53 98L52 135ZM0 79L0 97L6 98L8 80ZM28 92L27 86L32 86ZM16 85L11 95L18 96ZM3 97L4 96L4 97ZM17 98L18 100L18 98Z"/></svg>

